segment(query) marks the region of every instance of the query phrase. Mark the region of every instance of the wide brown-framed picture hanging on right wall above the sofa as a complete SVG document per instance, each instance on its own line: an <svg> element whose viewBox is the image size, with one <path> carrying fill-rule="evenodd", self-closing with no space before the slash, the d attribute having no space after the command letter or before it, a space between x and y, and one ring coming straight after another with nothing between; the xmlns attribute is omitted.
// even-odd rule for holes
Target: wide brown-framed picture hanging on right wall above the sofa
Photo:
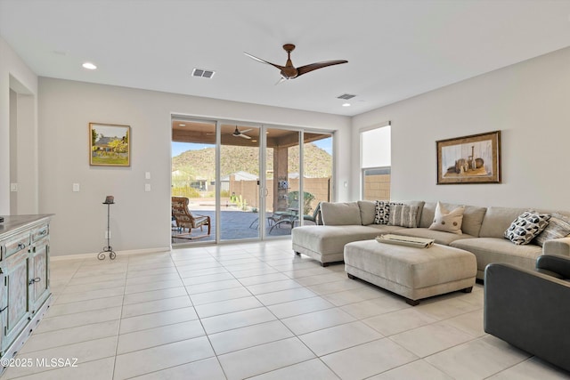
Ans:
<svg viewBox="0 0 570 380"><path fill-rule="evenodd" d="M436 141L437 184L501 183L501 131Z"/></svg>

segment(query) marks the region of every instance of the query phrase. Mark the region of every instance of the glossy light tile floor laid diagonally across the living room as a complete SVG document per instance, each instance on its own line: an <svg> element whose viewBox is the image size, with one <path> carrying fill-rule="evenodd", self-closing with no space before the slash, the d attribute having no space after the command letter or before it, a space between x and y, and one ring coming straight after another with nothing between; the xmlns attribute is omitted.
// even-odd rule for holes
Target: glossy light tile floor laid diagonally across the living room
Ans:
<svg viewBox="0 0 570 380"><path fill-rule="evenodd" d="M411 307L290 240L53 261L2 379L570 379L486 335L483 287ZM36 360L77 358L77 367Z"/></svg>

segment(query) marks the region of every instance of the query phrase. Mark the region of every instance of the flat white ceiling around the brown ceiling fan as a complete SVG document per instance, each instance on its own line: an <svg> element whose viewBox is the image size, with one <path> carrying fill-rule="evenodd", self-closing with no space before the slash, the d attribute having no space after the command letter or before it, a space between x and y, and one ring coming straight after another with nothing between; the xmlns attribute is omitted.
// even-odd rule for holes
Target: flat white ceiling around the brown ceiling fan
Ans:
<svg viewBox="0 0 570 380"><path fill-rule="evenodd" d="M0 35L42 77L353 116L570 45L570 0L0 0ZM286 43L348 63L243 54Z"/></svg>

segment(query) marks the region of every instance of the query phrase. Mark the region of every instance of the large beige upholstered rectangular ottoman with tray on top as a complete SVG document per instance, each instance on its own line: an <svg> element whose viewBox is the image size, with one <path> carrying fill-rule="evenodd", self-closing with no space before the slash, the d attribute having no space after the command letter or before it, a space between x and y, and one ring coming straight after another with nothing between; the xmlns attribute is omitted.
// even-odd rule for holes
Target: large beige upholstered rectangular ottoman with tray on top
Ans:
<svg viewBox="0 0 570 380"><path fill-rule="evenodd" d="M475 284L476 257L459 248L434 244L405 247L363 240L345 246L345 271L398 295L412 306L422 298L456 290L469 293Z"/></svg>

